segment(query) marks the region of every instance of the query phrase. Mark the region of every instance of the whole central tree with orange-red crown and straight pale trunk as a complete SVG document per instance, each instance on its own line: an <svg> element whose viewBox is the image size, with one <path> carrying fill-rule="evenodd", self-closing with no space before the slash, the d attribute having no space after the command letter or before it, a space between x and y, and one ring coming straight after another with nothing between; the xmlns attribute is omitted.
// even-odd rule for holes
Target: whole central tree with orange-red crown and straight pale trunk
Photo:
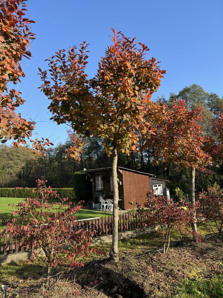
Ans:
<svg viewBox="0 0 223 298"><path fill-rule="evenodd" d="M49 72L40 69L41 90L51 100L49 110L57 124L69 123L76 134L101 139L104 151L112 156L113 240L111 256L118 260L117 152L129 155L138 150L139 134L153 132L147 109L155 103L151 95L160 86L165 70L155 58L146 60L147 46L136 38L126 38L112 29L111 46L98 63L95 77L86 74L87 44L56 52L49 61ZM48 78L48 75L50 78ZM76 148L75 148L76 151Z"/></svg>

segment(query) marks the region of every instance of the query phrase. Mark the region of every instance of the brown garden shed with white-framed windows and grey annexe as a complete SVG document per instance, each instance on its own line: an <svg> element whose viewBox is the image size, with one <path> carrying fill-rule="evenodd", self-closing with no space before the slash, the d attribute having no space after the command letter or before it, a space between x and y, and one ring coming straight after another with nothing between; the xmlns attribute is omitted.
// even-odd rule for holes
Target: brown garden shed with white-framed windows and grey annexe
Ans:
<svg viewBox="0 0 223 298"><path fill-rule="evenodd" d="M99 168L82 171L87 179L92 181L92 198L102 195L105 200L113 199L112 168ZM156 194L167 195L166 181L156 179L153 174L136 170L117 167L117 182L119 189L119 207L123 210L132 209L128 202L145 203L146 193L149 189L155 190Z"/></svg>

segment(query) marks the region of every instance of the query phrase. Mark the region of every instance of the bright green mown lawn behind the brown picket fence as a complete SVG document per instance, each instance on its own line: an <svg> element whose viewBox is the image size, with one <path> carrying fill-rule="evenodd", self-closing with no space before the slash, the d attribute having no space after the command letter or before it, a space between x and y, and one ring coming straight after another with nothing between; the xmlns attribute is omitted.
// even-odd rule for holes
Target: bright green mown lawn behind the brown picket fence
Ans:
<svg viewBox="0 0 223 298"><path fill-rule="evenodd" d="M11 218L11 213L14 209L11 206L8 206L8 204L17 205L19 202L24 202L24 201L25 199L22 199L22 198L0 198L0 218L2 216L6 218ZM55 202L55 201L56 200L48 200L48 202ZM77 203L78 201L72 201L72 202ZM76 213L77 219L102 217L102 216L108 216L108 215L112 215L112 213L87 210L87 209L81 209ZM0 227L1 227L1 220L0 220Z"/></svg>

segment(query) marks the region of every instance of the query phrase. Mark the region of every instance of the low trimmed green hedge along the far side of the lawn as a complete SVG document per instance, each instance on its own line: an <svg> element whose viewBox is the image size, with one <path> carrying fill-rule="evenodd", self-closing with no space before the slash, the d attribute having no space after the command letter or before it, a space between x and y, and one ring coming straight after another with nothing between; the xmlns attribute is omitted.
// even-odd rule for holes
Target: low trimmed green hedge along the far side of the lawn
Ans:
<svg viewBox="0 0 223 298"><path fill-rule="evenodd" d="M59 193L61 198L68 198L75 200L76 196L73 188L52 188ZM35 198L36 194L32 192L31 188L0 188L0 197L2 198Z"/></svg>

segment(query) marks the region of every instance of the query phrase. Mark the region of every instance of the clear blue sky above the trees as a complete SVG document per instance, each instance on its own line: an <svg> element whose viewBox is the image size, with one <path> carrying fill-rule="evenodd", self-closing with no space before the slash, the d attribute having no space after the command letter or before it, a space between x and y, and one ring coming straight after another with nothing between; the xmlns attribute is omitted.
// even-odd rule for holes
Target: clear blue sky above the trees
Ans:
<svg viewBox="0 0 223 298"><path fill-rule="evenodd" d="M93 76L100 56L111 43L111 27L146 44L161 61L167 74L155 96L193 83L223 96L222 0L28 0L27 17L33 19L33 58L23 60L26 77L18 85L26 100L19 112L37 121L36 134L54 144L65 142L66 125L49 122L48 99L37 89L38 67L47 68L46 58L59 49L87 41L88 75ZM46 122L47 121L47 122Z"/></svg>

